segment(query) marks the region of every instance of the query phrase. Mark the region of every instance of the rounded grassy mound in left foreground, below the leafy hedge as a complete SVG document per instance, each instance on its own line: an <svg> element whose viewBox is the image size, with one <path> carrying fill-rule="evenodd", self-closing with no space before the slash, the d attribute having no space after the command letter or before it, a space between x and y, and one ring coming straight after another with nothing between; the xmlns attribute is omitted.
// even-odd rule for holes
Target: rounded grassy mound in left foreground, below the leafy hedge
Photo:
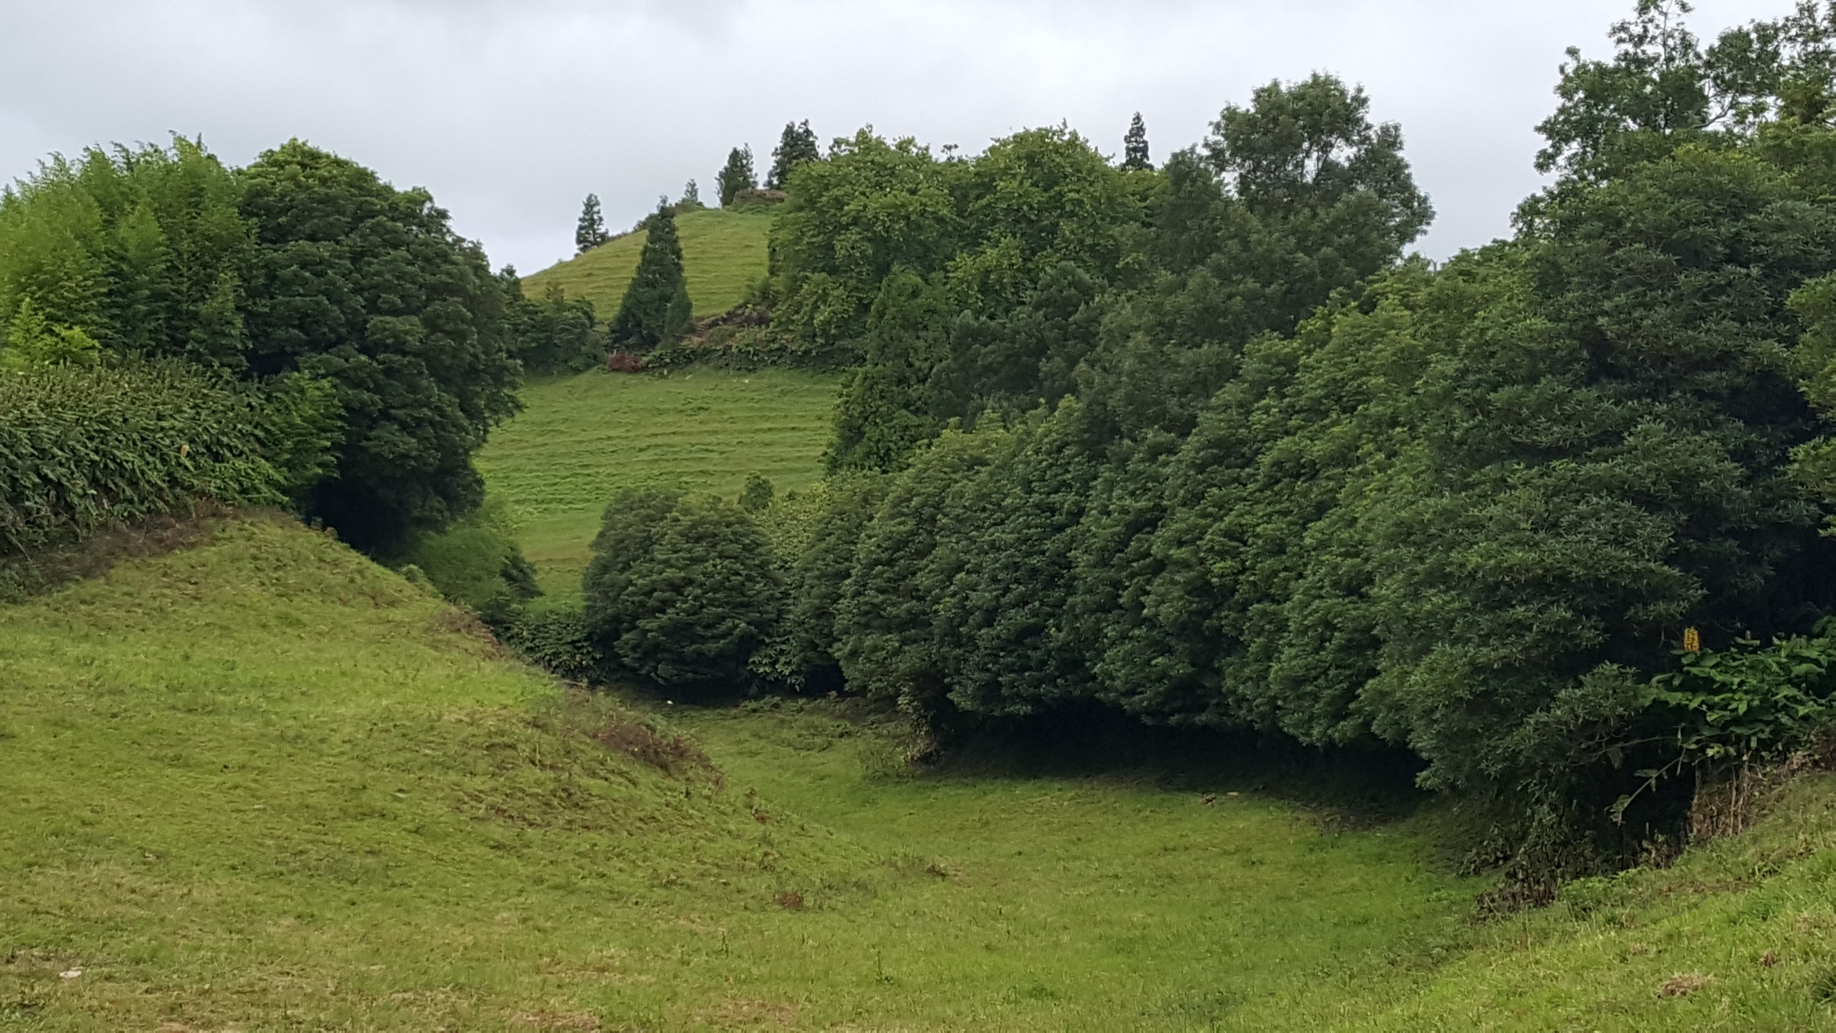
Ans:
<svg viewBox="0 0 1836 1033"><path fill-rule="evenodd" d="M0 1026L597 1015L868 860L281 518L0 607Z"/></svg>

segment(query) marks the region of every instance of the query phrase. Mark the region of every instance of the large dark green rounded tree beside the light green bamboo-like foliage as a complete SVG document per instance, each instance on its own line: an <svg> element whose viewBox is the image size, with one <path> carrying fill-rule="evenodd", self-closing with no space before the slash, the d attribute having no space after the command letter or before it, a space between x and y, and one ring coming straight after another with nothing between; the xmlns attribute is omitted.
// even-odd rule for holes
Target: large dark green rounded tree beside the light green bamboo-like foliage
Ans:
<svg viewBox="0 0 1836 1033"><path fill-rule="evenodd" d="M360 548L476 509L472 452L516 412L503 285L422 189L297 140L239 176L253 230L248 366L336 384L338 471L307 498Z"/></svg>

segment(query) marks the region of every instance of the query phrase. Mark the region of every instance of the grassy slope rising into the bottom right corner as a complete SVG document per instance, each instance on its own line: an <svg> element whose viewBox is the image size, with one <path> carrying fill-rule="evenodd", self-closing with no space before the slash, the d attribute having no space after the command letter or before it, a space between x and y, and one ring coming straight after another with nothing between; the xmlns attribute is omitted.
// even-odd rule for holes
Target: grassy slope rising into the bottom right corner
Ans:
<svg viewBox="0 0 1836 1033"><path fill-rule="evenodd" d="M1748 834L1568 886L1487 932L1364 1026L1836 1029L1836 776L1786 787Z"/></svg>

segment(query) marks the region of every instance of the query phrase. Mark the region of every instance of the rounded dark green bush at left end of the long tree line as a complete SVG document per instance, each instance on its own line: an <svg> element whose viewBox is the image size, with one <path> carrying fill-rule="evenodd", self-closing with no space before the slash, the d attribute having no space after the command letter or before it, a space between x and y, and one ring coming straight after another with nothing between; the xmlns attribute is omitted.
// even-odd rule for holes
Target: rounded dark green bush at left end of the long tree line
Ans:
<svg viewBox="0 0 1836 1033"><path fill-rule="evenodd" d="M742 682L782 592L751 516L665 491L626 491L606 507L584 588L589 641L621 673L681 687Z"/></svg>

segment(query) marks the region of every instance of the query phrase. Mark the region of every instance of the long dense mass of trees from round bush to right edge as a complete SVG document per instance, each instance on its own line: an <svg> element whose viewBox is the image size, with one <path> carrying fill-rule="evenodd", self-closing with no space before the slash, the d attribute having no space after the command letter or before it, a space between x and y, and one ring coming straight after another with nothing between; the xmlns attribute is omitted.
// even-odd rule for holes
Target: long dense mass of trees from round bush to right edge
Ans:
<svg viewBox="0 0 1836 1033"><path fill-rule="evenodd" d="M766 285L777 333L865 355L821 505L723 610L681 557L729 572L745 513L621 498L591 641L712 671L632 645L666 614L722 676L944 733L1100 706L1401 746L1522 849L1674 831L1682 761L1801 746L1779 700L1836 693L1836 11L1711 44L1676 15L1572 51L1555 180L1443 265L1406 254L1432 208L1399 127L1331 75L1159 169L1144 131L1122 167L1067 129L837 142ZM674 551L624 553L639 509ZM637 618L611 562L676 573Z"/></svg>

